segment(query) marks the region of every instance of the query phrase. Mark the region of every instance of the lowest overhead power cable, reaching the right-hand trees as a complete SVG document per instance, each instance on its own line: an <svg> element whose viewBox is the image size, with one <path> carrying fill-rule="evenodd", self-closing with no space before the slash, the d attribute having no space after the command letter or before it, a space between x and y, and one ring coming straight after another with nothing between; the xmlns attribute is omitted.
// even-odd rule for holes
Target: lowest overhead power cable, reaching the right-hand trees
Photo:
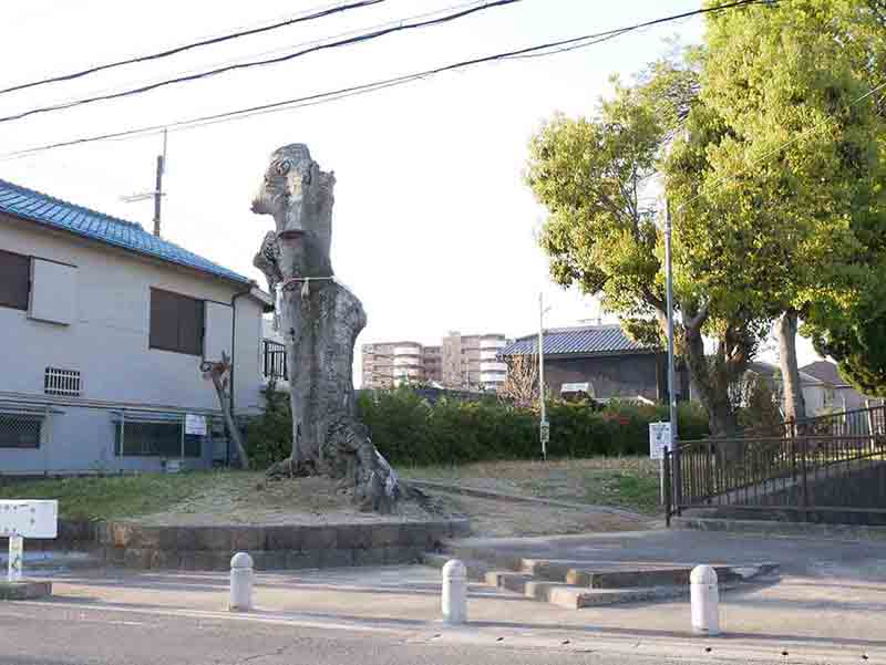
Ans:
<svg viewBox="0 0 886 665"><path fill-rule="evenodd" d="M461 69L464 69L464 67L474 66L474 65L484 64L484 63L494 62L494 61L499 61L499 60L512 60L512 59L516 59L518 56L526 55L526 54L529 54L529 53L542 53L542 52L544 52L546 55L554 55L554 54L559 53L560 51L553 50L553 49L560 49L563 46L571 46L571 45L576 45L576 44L579 44L579 43L583 43L584 46L589 46L589 45L593 45L594 43L597 43L595 41L589 41L589 40L598 40L599 38L606 38L606 37L609 37L609 35L614 35L616 33L626 33L626 32L630 32L630 31L633 31L633 30L640 30L642 28L648 28L648 27L655 25L655 24L661 24L661 23L664 23L664 22L668 22L668 21L674 21L674 20L684 19L684 18L688 18L688 17L698 15L698 14L705 14L705 13L711 13L711 12L724 11L724 10L728 10L728 9L736 9L736 8L740 8L740 7L749 7L751 4L759 4L761 2L766 2L766 0L741 0L741 1L738 1L738 2L733 2L733 3L730 3L730 4L724 4L724 6L717 7L717 8L700 9L700 10L696 10L696 11L692 11L692 12L686 12L686 13L682 13L682 14L677 14L677 15L673 15L673 17L666 17L666 18L662 18L662 19L656 19L655 21L647 21L646 23L639 23L637 25L630 25L628 28L619 28L619 29L615 29L615 30L607 30L607 31L604 31L604 32L595 33L595 34L585 34L585 35L577 37L577 38L558 40L558 41L554 41L554 42L538 44L538 45L535 45L535 46L527 46L527 48L524 48L524 49L517 49L517 50L508 51L508 52L504 52L504 53L496 53L494 55L486 55L486 56L482 56L482 58L474 58L474 59L471 59L471 60L463 60L463 61L455 62L455 63L452 63L452 64L439 66L439 67L435 67L435 69L432 69L432 70L425 70L423 72L416 72L416 73L412 73L412 74L404 74L402 76L394 76L394 77L391 77L391 79L373 81L371 83L364 83L364 84L360 84L360 85L352 85L352 86L349 86L349 87L342 87L342 89L321 92L321 93L315 93L315 94L306 95L306 96L302 96L302 97L296 97L296 98L291 98L291 100L284 100L284 101L280 101L280 102L272 102L272 103L268 103L268 104L261 104L261 105L257 105L257 106L250 106L250 107L247 107L247 108L239 108L239 110L236 110L236 111L228 111L228 112L217 113L217 114L213 114L213 115L205 115L205 116L184 120L184 121L176 121L176 122L158 124L158 125L148 125L148 126L143 126L143 127L133 127L133 128L130 128L130 129L121 129L119 132L112 132L112 133L107 133L107 134L99 134L99 135L94 135L94 136L74 138L74 139L70 139L70 141L52 143L52 144L47 144L47 145L42 145L42 146L35 146L35 147L32 147L32 148L23 148L23 149L20 149L20 150L4 153L4 154L0 155L0 159L8 160L8 159L17 158L17 157L23 157L23 156L27 156L27 155L33 155L33 154L37 154L37 153L42 153L42 152L55 149L55 148L70 147L70 146L74 146L74 145L82 145L82 144L85 144L85 143L94 143L94 142L97 142L97 141L123 139L123 138L132 137L132 136L158 133L158 132L163 132L164 129L193 128L193 127L198 127L198 126L218 124L218 123L223 123L223 122L230 122L230 121L234 121L234 120L241 120L241 118L251 117L251 116L255 116L255 115L264 115L264 114L267 114L267 113L288 111L288 110L300 108L300 107L305 107L305 106L315 106L315 105L318 105L318 104L324 104L324 103L333 102L333 101L337 101L337 100L342 100L342 98L350 97L350 96L362 95L362 94L367 94L367 93L371 93L371 92L377 92L377 91L380 91L380 90L385 90L385 89L389 89L389 87L404 85L406 83L411 83L411 82L414 82L414 81L423 80L425 77L434 76L434 75L442 74L442 73L449 72L449 71L461 70Z"/></svg>

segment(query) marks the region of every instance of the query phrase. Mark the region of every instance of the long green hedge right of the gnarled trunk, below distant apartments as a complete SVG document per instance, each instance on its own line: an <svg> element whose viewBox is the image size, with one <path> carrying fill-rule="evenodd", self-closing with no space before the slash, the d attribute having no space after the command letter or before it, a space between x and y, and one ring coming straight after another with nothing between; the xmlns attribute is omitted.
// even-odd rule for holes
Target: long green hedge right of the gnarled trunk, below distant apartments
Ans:
<svg viewBox="0 0 886 665"><path fill-rule="evenodd" d="M494 399L441 399L435 405L409 387L365 392L358 397L360 418L392 464L424 466L539 456L538 414ZM647 455L649 423L668 419L667 406L609 403L596 411L587 403L552 402L550 457ZM708 417L696 404L681 404L680 438L708 434Z"/></svg>

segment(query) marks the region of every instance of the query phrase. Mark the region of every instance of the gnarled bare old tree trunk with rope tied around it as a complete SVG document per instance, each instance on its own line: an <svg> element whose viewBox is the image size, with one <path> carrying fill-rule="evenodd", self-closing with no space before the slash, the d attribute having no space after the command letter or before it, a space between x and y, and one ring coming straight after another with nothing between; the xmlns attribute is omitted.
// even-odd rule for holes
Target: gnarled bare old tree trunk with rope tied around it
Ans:
<svg viewBox="0 0 886 665"><path fill-rule="evenodd" d="M253 211L274 216L255 264L279 291L289 359L292 454L271 476L326 474L353 487L363 510L390 511L404 488L357 420L353 347L367 316L330 261L334 176L305 145L278 149Z"/></svg>

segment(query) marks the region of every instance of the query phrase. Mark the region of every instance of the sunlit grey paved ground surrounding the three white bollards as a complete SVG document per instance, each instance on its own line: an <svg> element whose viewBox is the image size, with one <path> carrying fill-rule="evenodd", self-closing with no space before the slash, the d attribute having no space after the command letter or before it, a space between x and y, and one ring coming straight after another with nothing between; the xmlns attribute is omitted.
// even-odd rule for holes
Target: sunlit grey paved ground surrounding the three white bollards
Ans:
<svg viewBox="0 0 886 665"><path fill-rule="evenodd" d="M230 646L230 657L222 657L220 663L244 662L253 656L260 656L258 663L326 663L358 657L337 651L339 643L353 644L354 648L365 645L368 656L359 656L364 663L492 664L504 658L508 663L515 658L526 663L573 663L578 662L574 659L577 652L583 654L580 662L588 662L590 653L602 654L601 662L607 663L641 662L645 657L886 663L886 627L882 619L886 611L886 547L880 544L762 541L694 532L484 544L511 548L526 555L558 554L615 563L664 558L693 563L708 557L730 561L746 557L780 561L785 574L777 584L727 592L721 604L725 634L701 638L689 632L689 603L684 601L575 611L480 584L470 589L471 623L445 626L439 621L440 572L420 565L258 573L256 612L234 615L225 611L228 581L224 573L74 571L53 575L55 598L51 601L0 603L0 663L28 663L9 659L16 648L24 648L25 644L30 644L32 651L27 653L31 655L58 656L55 661L33 663L210 663L214 661L209 654L228 653L223 648L227 637L215 642L212 635L216 634L245 635L244 645L270 647L241 650L237 642ZM130 628L136 633L147 631L153 638L138 637L131 643L124 637ZM12 634L14 641L10 641ZM40 641L42 634L48 635L45 644ZM61 643L58 653L50 648L63 634L70 634L64 644L74 651L65 652ZM117 651L80 644L86 635L96 640L104 640L105 635L114 641ZM256 642L256 635L272 638ZM168 652L159 646L173 638L183 644L181 658L172 646ZM152 641L157 643L153 651ZM192 651L192 646L205 641L206 658L199 659L203 652L196 647ZM300 641L309 645L307 651ZM144 644L144 653L138 651L142 647L136 648L137 644ZM131 654L130 647L136 651ZM284 651L275 655L276 648ZM295 652L289 651L292 648ZM113 653L126 657L102 659ZM162 653L166 659L159 658ZM293 653L297 659L292 658ZM188 661L188 654L196 659ZM285 659L287 654L289 661ZM69 656L80 659L64 659ZM157 659L152 661L155 656Z"/></svg>

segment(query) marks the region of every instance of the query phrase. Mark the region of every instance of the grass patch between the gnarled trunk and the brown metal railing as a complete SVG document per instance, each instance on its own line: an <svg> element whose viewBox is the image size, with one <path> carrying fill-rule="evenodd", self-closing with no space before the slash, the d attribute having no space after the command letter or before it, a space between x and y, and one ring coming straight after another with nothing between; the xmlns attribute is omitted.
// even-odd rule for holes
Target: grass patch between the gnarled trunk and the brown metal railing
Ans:
<svg viewBox="0 0 886 665"><path fill-rule="evenodd" d="M656 513L659 467L647 457L555 461L486 461L401 469L405 478L439 480L577 503Z"/></svg>

